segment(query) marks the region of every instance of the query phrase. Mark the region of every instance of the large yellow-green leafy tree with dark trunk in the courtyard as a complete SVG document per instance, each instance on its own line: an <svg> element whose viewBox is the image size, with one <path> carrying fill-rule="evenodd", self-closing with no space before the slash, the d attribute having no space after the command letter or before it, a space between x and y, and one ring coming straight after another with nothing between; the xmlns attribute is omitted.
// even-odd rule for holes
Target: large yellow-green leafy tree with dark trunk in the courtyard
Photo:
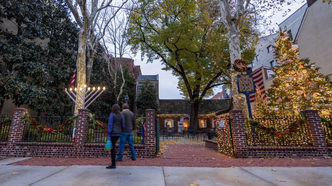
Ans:
<svg viewBox="0 0 332 186"><path fill-rule="evenodd" d="M226 30L220 24L217 3L212 1L139 0L129 24L129 44L148 62L159 59L179 79L178 88L191 102L190 128L198 127L198 110L213 88L229 81L230 59ZM250 36L243 24L244 59L254 57Z"/></svg>

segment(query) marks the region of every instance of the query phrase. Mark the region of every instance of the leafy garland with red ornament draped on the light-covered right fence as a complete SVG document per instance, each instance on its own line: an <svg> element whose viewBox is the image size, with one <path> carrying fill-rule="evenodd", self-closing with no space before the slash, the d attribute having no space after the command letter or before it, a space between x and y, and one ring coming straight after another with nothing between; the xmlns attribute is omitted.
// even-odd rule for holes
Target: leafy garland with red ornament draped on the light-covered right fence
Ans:
<svg viewBox="0 0 332 186"><path fill-rule="evenodd" d="M280 138L282 135L292 135L296 132L298 132L298 129L302 126L304 126L306 123L308 123L307 120L299 117L292 123L290 123L290 126L284 130L277 130L274 127L267 127L262 123L259 123L258 121L254 119L247 119L247 124L250 124L251 126L254 126L258 129L259 132L265 132L270 135L274 135L278 138Z"/></svg>

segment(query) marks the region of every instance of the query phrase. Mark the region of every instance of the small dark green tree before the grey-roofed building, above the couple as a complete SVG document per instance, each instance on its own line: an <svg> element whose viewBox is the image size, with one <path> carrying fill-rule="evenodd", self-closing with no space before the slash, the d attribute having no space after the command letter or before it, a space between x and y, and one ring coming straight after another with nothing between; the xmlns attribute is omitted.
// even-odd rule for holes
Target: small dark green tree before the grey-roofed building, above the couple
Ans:
<svg viewBox="0 0 332 186"><path fill-rule="evenodd" d="M146 80L141 85L141 92L137 93L136 107L139 114L144 114L146 109L154 109L159 112L157 103L157 90L153 87L153 83Z"/></svg>

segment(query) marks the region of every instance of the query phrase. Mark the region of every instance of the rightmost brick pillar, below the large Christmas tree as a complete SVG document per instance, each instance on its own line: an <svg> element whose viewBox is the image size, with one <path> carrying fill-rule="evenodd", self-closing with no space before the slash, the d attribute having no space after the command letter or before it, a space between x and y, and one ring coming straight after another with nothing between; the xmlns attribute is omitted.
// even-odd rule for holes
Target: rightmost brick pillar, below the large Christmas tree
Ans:
<svg viewBox="0 0 332 186"><path fill-rule="evenodd" d="M305 125L309 143L317 148L318 154L327 154L327 147L325 143L325 136L322 129L322 124L319 119L317 110L304 110L301 111L303 116L308 120Z"/></svg>

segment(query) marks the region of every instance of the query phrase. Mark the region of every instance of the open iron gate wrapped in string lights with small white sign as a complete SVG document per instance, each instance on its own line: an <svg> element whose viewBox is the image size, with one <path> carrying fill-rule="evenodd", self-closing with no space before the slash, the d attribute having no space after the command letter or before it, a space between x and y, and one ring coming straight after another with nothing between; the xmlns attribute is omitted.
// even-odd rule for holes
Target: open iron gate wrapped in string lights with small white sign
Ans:
<svg viewBox="0 0 332 186"><path fill-rule="evenodd" d="M222 154L234 156L234 144L232 138L231 118L224 116L218 119L219 127L217 128L218 149Z"/></svg>

